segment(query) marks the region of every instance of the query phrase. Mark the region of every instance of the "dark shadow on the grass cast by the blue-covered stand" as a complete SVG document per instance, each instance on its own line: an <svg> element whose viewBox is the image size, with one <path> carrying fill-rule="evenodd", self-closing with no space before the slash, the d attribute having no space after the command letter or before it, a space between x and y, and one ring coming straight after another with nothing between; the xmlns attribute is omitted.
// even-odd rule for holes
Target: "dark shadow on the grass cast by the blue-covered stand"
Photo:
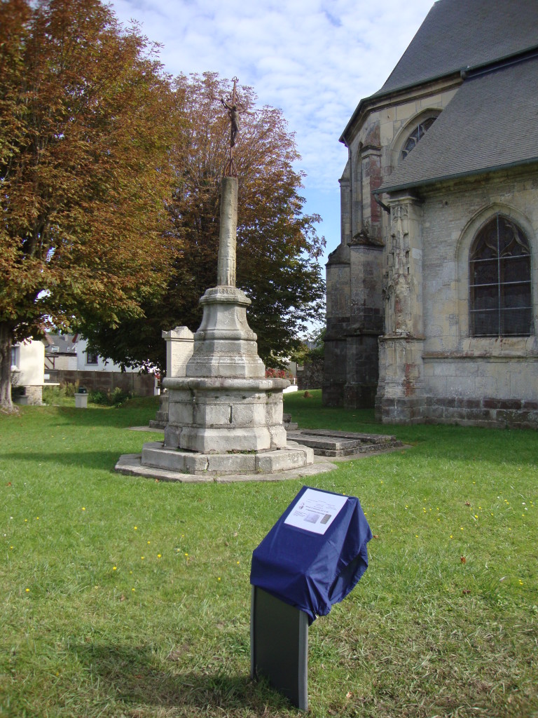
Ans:
<svg viewBox="0 0 538 718"><path fill-rule="evenodd" d="M229 712L250 709L255 715L268 715L270 704L275 714L290 708L283 696L265 682L253 683L250 676L230 676L214 657L207 670L181 669L181 656L163 661L147 646L77 645L72 647L77 660L105 684L118 701L131 705L208 707ZM186 662L189 658L186 656ZM192 660L192 657L191 657Z"/></svg>

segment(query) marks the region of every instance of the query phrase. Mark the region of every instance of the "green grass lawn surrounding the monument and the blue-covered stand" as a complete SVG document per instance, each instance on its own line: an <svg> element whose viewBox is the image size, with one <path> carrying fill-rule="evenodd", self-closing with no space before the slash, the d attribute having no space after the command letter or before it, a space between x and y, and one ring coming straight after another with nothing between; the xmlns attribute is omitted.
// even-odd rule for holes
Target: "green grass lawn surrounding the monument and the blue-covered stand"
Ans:
<svg viewBox="0 0 538 718"><path fill-rule="evenodd" d="M285 397L303 427L411 447L308 485L356 495L369 569L310 628L315 718L538 717L538 434L380 426ZM291 717L250 671L250 556L302 482L116 475L154 399L0 415L0 716Z"/></svg>

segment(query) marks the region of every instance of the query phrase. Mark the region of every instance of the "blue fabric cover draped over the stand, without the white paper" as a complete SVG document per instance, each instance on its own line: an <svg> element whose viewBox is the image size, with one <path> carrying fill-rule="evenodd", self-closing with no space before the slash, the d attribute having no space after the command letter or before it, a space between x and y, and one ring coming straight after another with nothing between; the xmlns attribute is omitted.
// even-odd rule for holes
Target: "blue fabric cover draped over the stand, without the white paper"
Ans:
<svg viewBox="0 0 538 718"><path fill-rule="evenodd" d="M312 623L359 582L368 567L372 531L354 496L347 497L324 535L286 525L286 517L307 488L303 486L253 551L250 583L300 608Z"/></svg>

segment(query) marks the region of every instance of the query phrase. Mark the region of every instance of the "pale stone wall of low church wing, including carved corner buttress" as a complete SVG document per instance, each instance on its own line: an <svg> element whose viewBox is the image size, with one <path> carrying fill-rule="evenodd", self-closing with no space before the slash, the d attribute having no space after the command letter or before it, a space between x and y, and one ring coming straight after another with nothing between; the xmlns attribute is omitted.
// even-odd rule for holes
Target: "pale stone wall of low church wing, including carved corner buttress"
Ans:
<svg viewBox="0 0 538 718"><path fill-rule="evenodd" d="M538 256L535 172L513 170L423 191L414 225L407 220L409 195L391 200L397 230L384 252L387 319L376 400L383 421L538 426L537 336L471 336L468 289L476 230L497 213L525 230ZM532 286L537 317L536 262Z"/></svg>

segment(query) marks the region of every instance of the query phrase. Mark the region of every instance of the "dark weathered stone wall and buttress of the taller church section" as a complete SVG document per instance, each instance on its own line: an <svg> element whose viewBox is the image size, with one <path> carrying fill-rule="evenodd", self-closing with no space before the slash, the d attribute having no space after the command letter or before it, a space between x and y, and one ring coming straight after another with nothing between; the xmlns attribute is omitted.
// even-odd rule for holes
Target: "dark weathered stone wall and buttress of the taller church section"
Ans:
<svg viewBox="0 0 538 718"><path fill-rule="evenodd" d="M378 339L384 333L382 277L394 258L393 249L385 256L390 221L374 192L397 163L417 118L438 115L456 91L437 90L438 83L429 97L407 93L397 106L374 103L364 123L350 128L349 160L340 180L341 243L326 266L326 406L374 406Z"/></svg>

